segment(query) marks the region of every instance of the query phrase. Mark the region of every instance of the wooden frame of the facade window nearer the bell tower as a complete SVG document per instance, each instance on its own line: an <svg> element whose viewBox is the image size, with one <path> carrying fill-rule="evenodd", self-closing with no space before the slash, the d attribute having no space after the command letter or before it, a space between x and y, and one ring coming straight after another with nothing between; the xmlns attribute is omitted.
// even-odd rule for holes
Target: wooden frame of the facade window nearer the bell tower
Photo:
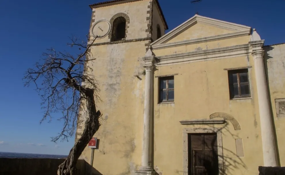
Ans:
<svg viewBox="0 0 285 175"><path fill-rule="evenodd" d="M165 80L166 80L166 88L161 89L161 82L163 82ZM174 98L173 98L173 100L168 100L168 91L173 90L173 93L174 93L174 88L168 88L168 84L169 84L168 81L169 80L173 80L173 84L174 84L174 76L173 75L158 78L158 103L174 102ZM163 100L163 97L161 98L161 91L166 91L166 100Z"/></svg>

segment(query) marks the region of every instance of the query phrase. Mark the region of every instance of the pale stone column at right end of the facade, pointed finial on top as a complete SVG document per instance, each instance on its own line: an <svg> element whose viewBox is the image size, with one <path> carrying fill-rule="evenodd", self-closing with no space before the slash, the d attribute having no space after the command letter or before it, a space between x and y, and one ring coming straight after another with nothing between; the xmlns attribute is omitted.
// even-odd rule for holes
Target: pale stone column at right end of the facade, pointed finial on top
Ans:
<svg viewBox="0 0 285 175"><path fill-rule="evenodd" d="M259 104L263 163L264 166L278 166L273 123L269 106L267 83L263 62L263 43L264 40L261 40L259 35L254 30L250 45L252 47L251 54L254 60L255 80Z"/></svg>

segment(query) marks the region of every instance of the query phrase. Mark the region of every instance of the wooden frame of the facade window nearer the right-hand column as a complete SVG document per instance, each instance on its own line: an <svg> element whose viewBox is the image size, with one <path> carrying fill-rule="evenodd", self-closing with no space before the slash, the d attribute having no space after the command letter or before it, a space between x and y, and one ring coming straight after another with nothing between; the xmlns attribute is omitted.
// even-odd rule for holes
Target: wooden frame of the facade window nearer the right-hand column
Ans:
<svg viewBox="0 0 285 175"><path fill-rule="evenodd" d="M240 74L247 73L247 82L240 82ZM237 83L233 82L232 75L236 74ZM249 69L234 69L228 70L228 83L229 83L229 92L230 92L230 99L238 99L238 98L250 98L251 97L251 86L249 81ZM234 94L234 86L238 86L238 96ZM242 95L241 93L241 85L248 85L249 87L249 95Z"/></svg>

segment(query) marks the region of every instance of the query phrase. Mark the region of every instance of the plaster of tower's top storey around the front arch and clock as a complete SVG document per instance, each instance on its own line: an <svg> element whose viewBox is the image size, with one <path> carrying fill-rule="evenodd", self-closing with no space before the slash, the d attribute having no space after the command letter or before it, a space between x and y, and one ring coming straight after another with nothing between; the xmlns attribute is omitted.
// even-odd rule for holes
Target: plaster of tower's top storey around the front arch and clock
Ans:
<svg viewBox="0 0 285 175"><path fill-rule="evenodd" d="M122 3L117 5L110 5L105 7L99 7L95 9L95 22L99 20L110 20L113 15L117 13L125 13L130 18L130 24L128 24L128 33L126 40L146 38L147 34L147 6L149 0L134 1L129 3ZM95 43L109 42L108 36L95 41Z"/></svg>

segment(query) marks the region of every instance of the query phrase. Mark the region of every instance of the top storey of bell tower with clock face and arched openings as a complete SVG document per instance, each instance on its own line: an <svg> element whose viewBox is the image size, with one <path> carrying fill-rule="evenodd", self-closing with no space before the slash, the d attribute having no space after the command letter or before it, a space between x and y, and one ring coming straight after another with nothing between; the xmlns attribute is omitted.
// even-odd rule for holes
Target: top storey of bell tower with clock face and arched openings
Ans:
<svg viewBox="0 0 285 175"><path fill-rule="evenodd" d="M113 0L90 5L96 44L155 41L168 29L157 0Z"/></svg>

